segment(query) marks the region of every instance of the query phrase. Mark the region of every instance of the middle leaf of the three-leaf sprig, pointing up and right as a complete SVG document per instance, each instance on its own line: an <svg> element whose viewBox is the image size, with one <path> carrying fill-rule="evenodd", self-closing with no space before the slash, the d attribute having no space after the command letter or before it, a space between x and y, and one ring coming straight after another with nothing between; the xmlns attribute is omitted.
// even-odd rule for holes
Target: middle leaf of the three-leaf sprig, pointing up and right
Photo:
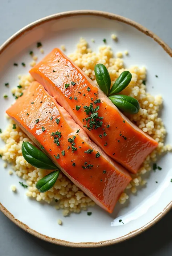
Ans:
<svg viewBox="0 0 172 256"><path fill-rule="evenodd" d="M132 75L129 71L122 72L113 84L109 95L114 95L124 90L130 84L131 78Z"/></svg>

